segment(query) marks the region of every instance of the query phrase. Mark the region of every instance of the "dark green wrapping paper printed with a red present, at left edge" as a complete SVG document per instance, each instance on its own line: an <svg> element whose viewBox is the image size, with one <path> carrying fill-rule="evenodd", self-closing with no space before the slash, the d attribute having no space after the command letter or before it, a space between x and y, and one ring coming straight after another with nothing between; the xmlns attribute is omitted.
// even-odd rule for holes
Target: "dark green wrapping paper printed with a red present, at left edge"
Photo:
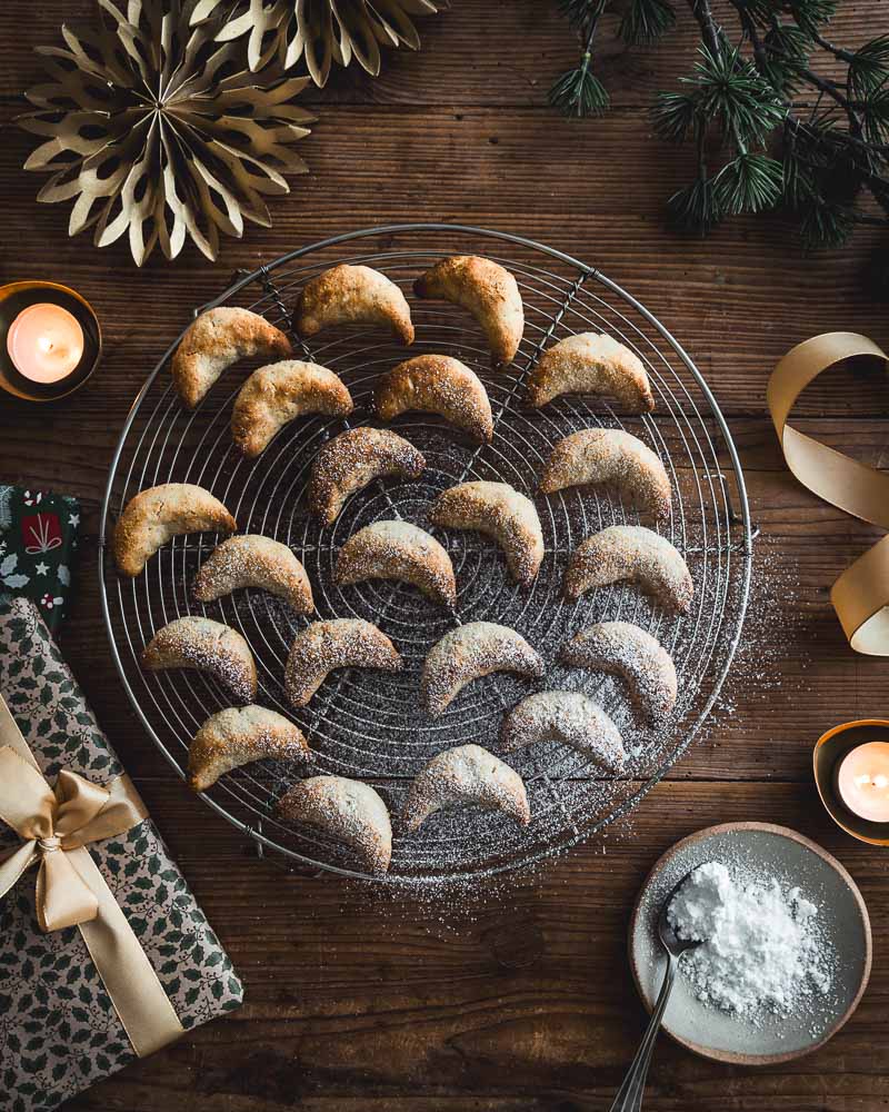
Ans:
<svg viewBox="0 0 889 1112"><path fill-rule="evenodd" d="M53 633L68 605L79 527L76 498L0 486L0 599L33 599Z"/></svg>

